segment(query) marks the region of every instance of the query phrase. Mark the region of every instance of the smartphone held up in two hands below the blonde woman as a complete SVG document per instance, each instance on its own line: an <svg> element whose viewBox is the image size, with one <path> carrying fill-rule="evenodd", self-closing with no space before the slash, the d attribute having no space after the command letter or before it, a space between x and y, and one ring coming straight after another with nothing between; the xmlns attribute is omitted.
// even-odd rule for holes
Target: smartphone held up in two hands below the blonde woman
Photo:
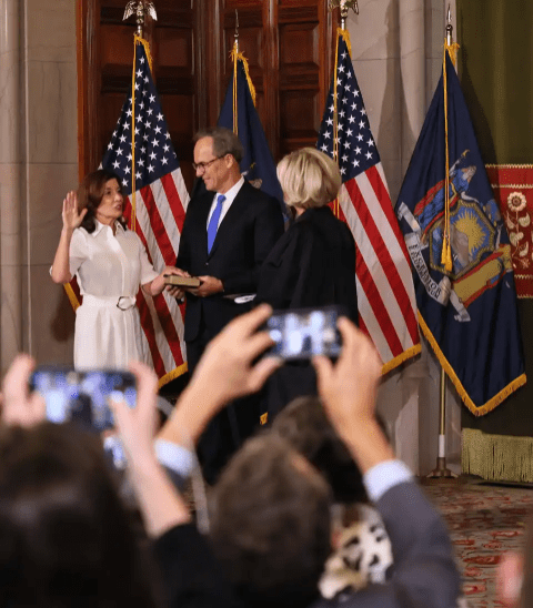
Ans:
<svg viewBox="0 0 533 608"><path fill-rule="evenodd" d="M263 327L274 341L266 354L286 361L314 355L336 358L342 348L336 327L341 314L344 313L338 306L274 311Z"/></svg>

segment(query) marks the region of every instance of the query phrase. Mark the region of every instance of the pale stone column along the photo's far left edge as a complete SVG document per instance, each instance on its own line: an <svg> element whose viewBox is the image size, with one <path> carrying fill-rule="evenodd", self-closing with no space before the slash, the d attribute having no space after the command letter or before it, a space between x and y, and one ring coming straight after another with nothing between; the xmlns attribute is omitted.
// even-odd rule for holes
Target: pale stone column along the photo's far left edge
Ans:
<svg viewBox="0 0 533 608"><path fill-rule="evenodd" d="M0 371L21 348L20 4L0 0Z"/></svg>

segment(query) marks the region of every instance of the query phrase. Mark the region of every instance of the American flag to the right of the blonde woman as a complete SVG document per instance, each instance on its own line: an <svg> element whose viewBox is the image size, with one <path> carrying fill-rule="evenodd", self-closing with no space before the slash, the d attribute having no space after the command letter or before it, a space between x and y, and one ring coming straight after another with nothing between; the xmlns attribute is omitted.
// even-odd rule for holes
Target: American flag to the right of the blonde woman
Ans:
<svg viewBox="0 0 533 608"><path fill-rule="evenodd" d="M421 349L416 303L405 243L345 36L339 36L336 73L316 148L339 163L342 189L334 210L355 240L359 323L378 348L385 373Z"/></svg>

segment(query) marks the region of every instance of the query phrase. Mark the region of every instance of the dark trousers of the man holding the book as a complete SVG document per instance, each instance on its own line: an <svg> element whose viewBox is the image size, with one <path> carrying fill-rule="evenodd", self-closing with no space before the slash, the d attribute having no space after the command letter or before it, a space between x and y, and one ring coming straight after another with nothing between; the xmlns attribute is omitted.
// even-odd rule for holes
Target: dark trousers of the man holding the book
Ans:
<svg viewBox="0 0 533 608"><path fill-rule="evenodd" d="M192 376L211 336L202 331L187 343L189 374ZM208 484L214 484L220 472L240 445L259 426L260 404L257 395L229 404L209 423L198 444L198 457Z"/></svg>

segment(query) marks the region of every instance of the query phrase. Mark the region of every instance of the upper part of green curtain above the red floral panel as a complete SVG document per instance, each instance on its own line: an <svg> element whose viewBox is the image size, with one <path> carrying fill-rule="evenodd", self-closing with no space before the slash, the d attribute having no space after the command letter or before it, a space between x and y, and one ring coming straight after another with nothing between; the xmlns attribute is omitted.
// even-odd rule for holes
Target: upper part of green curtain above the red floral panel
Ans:
<svg viewBox="0 0 533 608"><path fill-rule="evenodd" d="M485 163L533 163L533 2L457 0L457 42Z"/></svg>

